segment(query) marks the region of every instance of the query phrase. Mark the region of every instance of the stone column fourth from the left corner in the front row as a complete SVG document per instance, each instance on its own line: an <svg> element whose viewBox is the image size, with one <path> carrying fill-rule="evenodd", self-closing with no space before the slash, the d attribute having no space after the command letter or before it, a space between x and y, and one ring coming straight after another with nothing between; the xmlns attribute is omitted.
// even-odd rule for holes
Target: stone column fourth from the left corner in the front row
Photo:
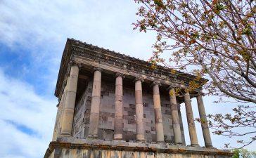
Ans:
<svg viewBox="0 0 256 158"><path fill-rule="evenodd" d="M143 124L143 101L142 101L142 79L135 81L135 107L136 107L136 140L145 141L145 130Z"/></svg>

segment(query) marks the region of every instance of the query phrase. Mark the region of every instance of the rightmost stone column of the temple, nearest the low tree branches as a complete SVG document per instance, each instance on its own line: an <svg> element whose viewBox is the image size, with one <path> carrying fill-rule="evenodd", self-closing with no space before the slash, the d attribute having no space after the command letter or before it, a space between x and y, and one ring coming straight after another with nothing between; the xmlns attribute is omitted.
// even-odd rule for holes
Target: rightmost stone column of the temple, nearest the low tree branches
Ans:
<svg viewBox="0 0 256 158"><path fill-rule="evenodd" d="M198 111L200 115L202 131L203 131L203 139L205 140L205 147L212 147L212 140L211 140L209 126L208 126L208 122L205 114L205 105L203 105L203 98L199 94L196 100L198 101Z"/></svg>

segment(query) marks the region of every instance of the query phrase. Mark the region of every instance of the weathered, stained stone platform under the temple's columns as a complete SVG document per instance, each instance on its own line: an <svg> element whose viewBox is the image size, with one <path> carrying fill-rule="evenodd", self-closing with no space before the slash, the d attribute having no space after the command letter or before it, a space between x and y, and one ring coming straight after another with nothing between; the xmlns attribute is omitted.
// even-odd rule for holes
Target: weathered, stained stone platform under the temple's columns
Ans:
<svg viewBox="0 0 256 158"><path fill-rule="evenodd" d="M169 143L129 143L63 137L50 143L44 158L227 158L232 155L229 150Z"/></svg>

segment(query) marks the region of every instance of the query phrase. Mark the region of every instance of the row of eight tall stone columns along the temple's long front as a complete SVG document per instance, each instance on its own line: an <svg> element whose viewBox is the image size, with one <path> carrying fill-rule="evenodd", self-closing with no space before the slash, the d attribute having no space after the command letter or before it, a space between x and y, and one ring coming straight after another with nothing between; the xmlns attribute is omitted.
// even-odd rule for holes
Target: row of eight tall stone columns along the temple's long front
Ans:
<svg viewBox="0 0 256 158"><path fill-rule="evenodd" d="M76 64L71 66L70 77L67 83L67 92L65 94L65 107L63 112L63 121L61 124L61 136L71 136L72 121L75 110L75 97L77 91L77 79L79 68ZM122 92L122 79L124 75L117 73L115 79L115 124L114 124L114 139L122 140L122 126L123 126L123 92ZM143 98L142 98L142 82L143 79L136 78L135 80L135 104L136 104L136 140L145 141L145 130L143 125ZM153 83L153 107L155 113L155 129L157 142L164 142L164 131L162 126L162 112L159 93L160 83ZM188 92L184 96L186 106L186 117L188 122L188 131L191 140L191 145L198 145L198 138L196 134L196 127L194 124L193 110L191 107L191 98ZM89 124L88 138L98 138L98 120L99 120L99 107L101 101L101 69L94 69L94 82L92 88L91 98L91 114ZM179 113L174 88L169 88L169 101L171 105L172 125L174 131L174 143L182 144L181 140L181 127L179 123ZM202 96L199 94L197 97L198 110L200 114L201 126L203 130L203 137L206 147L212 147L210 138L210 131L207 125L205 114L205 107L203 105Z"/></svg>

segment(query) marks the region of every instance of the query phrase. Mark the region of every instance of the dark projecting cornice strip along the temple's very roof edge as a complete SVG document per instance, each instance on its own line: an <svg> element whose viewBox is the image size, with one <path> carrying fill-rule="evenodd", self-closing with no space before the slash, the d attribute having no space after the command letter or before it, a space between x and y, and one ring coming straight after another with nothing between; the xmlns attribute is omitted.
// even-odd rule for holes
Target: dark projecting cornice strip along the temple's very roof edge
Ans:
<svg viewBox="0 0 256 158"><path fill-rule="evenodd" d="M62 56L62 59L61 59L61 62L60 62L60 69L59 69L59 72L58 72L58 80L57 80L57 83L56 83L56 90L55 90L55 93L54 93L54 95L56 97L58 97L58 95L60 93L60 88L61 88L60 84L65 79L65 71L68 68L68 62L71 58L72 51L70 51L70 50L71 50L72 44L80 44L80 45L84 46L84 48L94 48L94 49L96 49L97 51L100 51L100 52L111 53L114 56L117 56L118 58L125 58L126 60L130 60L131 62L139 62L141 65L146 65L148 67L151 67L151 65L152 65L151 62L147 62L147 61L141 60L139 58L134 58L134 57L131 57L129 55L124 55L122 53L117 53L115 51L110 51L109 49L106 49L106 48L100 48L100 47L94 46L92 44L87 44L86 42L82 42L82 41L79 41L79 40L76 40L76 39L69 39L68 38L67 41L66 41L65 48L64 48L64 51L63 51L63 56ZM168 67L163 67L162 65L157 65L157 69L162 70L162 71L172 70ZM185 72L180 72L180 71L177 71L177 74L174 74L174 75L179 75L179 76L185 77L187 79L193 79L193 78L196 77L192 74L187 74ZM207 79L203 79L202 81L204 81L204 80L207 81Z"/></svg>

